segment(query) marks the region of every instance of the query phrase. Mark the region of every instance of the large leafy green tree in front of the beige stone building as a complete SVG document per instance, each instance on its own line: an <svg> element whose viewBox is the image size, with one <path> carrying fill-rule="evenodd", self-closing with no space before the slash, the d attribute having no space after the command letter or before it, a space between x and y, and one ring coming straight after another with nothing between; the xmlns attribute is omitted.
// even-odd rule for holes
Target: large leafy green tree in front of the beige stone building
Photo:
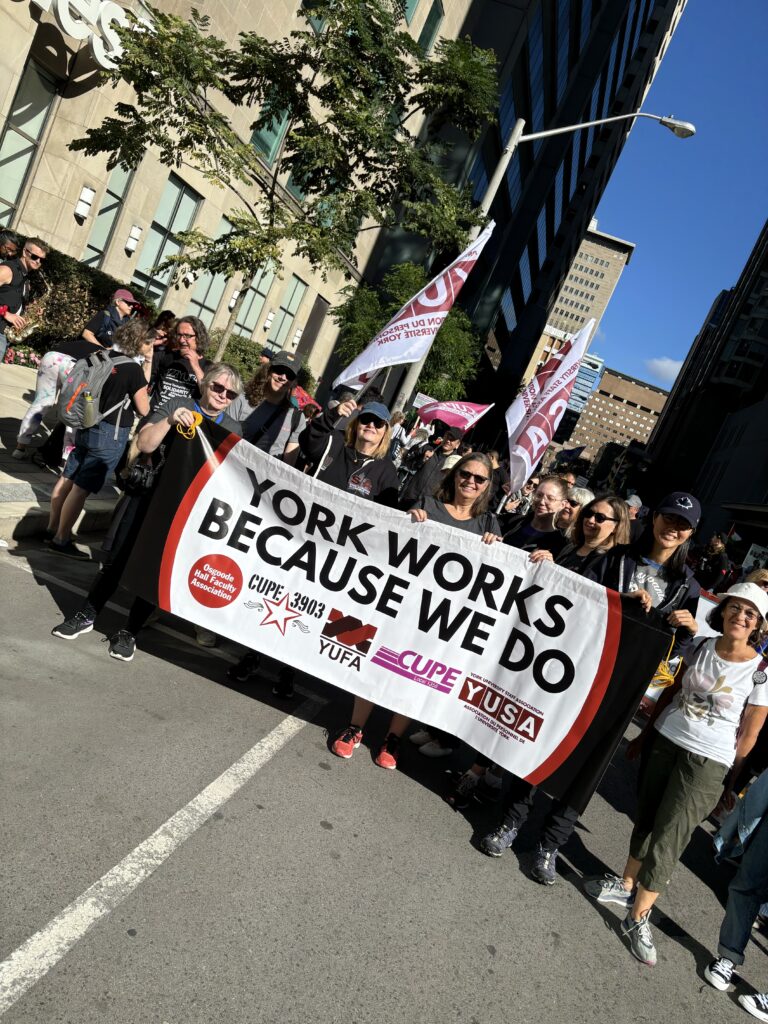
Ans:
<svg viewBox="0 0 768 1024"><path fill-rule="evenodd" d="M231 194L231 232L184 232L183 252L168 261L180 273L243 273L248 283L293 251L349 274L360 230L398 226L455 251L477 222L468 189L443 180L442 129L474 138L493 120L493 51L439 40L425 55L404 31L402 0L304 7L306 29L282 40L244 32L237 47L196 9L187 18L150 6L151 31L136 22L120 31L124 53L106 75L132 86L134 99L71 146L106 154L110 168L136 167L154 148L163 164L191 165ZM233 127L232 106L253 110L253 140ZM267 138L273 152L264 152ZM289 174L291 195L281 185Z"/></svg>

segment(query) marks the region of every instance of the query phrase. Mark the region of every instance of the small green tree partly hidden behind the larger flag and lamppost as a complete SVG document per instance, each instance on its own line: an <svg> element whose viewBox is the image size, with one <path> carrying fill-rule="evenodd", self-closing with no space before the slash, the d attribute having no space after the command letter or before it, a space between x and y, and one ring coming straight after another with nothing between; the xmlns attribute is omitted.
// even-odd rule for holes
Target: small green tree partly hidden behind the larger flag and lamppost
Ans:
<svg viewBox="0 0 768 1024"><path fill-rule="evenodd" d="M339 325L336 354L344 365L352 361L397 310L427 284L427 274L416 263L400 263L382 281L380 289L360 285L347 289L347 298L332 311ZM429 350L419 388L437 401L463 398L474 378L480 341L463 309L451 310Z"/></svg>

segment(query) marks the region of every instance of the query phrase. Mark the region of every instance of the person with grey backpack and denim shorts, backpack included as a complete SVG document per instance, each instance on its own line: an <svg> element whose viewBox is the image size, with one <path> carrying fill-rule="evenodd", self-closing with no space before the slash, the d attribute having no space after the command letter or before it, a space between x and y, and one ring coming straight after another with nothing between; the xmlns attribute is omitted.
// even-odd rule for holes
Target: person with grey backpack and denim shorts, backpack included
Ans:
<svg viewBox="0 0 768 1024"><path fill-rule="evenodd" d="M50 550L71 558L90 555L73 543L72 530L88 495L97 494L128 443L133 412L146 416L153 338L143 321L115 332L121 352L97 349L79 359L61 387L58 416L76 427L75 447L51 493L47 537ZM143 367L134 361L144 356Z"/></svg>

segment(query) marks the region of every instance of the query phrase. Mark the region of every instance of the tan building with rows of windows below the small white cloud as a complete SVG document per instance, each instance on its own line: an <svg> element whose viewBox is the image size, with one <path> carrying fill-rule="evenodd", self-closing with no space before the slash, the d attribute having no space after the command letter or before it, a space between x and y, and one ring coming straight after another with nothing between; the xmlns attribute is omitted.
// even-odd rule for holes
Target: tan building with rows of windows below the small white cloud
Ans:
<svg viewBox="0 0 768 1024"><path fill-rule="evenodd" d="M594 459L603 444L645 443L656 425L668 392L606 368L600 386L587 399L570 435L569 447L584 447Z"/></svg>

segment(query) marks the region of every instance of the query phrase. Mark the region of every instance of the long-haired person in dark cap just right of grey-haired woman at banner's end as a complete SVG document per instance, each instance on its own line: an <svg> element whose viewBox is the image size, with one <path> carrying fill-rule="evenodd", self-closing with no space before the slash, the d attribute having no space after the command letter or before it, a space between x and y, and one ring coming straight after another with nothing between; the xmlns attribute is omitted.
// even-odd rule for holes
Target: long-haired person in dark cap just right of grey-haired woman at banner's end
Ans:
<svg viewBox="0 0 768 1024"><path fill-rule="evenodd" d="M304 417L292 400L301 359L284 349L246 384L230 415L243 424L243 436L267 455L295 465Z"/></svg>

